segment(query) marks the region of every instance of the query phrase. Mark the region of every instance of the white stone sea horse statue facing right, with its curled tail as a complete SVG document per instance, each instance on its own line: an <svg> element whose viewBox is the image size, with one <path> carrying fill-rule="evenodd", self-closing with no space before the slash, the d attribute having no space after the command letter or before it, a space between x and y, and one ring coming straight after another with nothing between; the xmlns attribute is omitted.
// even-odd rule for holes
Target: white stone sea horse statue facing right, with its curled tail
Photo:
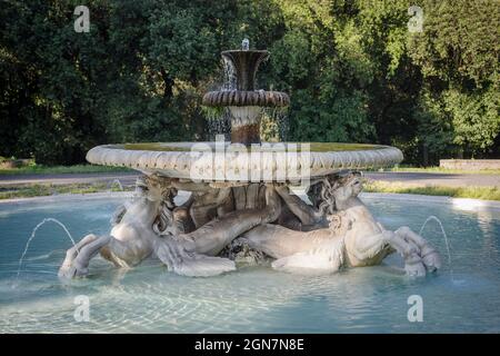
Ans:
<svg viewBox="0 0 500 356"><path fill-rule="evenodd" d="M440 268L438 253L421 236L408 227L386 230L358 198L361 189L358 174L328 176L311 189L317 209L292 196L287 187L277 188L303 225L319 228L299 231L266 224L247 231L242 239L276 258L272 267L280 270L337 271L372 266L393 251L402 255L409 275L423 276L426 269ZM324 220L327 227L322 227Z"/></svg>

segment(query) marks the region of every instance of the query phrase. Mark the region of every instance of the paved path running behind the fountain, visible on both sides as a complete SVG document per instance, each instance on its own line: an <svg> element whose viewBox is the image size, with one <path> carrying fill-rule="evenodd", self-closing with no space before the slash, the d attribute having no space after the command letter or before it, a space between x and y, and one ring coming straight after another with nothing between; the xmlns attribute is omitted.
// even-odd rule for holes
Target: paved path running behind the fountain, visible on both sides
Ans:
<svg viewBox="0 0 500 356"><path fill-rule="evenodd" d="M450 175L427 172L367 172L367 178L382 181L402 182L411 186L482 186L500 187L500 175ZM136 172L110 174L60 174L60 175L0 175L0 187L20 186L28 184L91 184L120 180L123 186L132 186L136 182Z"/></svg>

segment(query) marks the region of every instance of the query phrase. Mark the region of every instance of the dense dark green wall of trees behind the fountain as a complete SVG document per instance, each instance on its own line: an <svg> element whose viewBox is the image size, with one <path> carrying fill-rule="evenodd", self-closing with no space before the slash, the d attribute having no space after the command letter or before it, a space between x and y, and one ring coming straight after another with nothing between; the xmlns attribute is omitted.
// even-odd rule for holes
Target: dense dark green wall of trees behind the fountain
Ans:
<svg viewBox="0 0 500 356"><path fill-rule="evenodd" d="M2 0L0 156L74 164L94 145L203 139L219 52L272 52L293 140L394 145L407 161L496 157L498 0ZM410 32L408 8L423 10Z"/></svg>

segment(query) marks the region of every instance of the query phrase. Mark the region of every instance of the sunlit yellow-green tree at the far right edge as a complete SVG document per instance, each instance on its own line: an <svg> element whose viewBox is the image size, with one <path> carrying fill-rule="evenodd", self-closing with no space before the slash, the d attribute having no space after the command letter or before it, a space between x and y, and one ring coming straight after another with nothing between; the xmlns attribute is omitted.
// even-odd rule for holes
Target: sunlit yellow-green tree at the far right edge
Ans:
<svg viewBox="0 0 500 356"><path fill-rule="evenodd" d="M427 145L442 139L439 146L459 156L493 149L500 132L498 4L423 1L424 30L410 37L409 55L424 78L427 107L440 109L421 115L420 122L428 127L438 120L448 127L440 138L419 130Z"/></svg>

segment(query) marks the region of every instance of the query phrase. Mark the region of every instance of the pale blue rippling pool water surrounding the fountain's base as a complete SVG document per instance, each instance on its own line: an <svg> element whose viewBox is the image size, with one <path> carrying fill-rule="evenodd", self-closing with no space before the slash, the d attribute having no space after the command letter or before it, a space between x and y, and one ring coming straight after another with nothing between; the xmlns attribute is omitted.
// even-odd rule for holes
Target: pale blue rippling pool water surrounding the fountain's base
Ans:
<svg viewBox="0 0 500 356"><path fill-rule="evenodd" d="M329 276L297 276L246 267L210 278L169 273L154 260L127 273L101 258L88 278L57 277L64 230L41 226L17 278L18 261L43 218L63 222L74 239L103 234L121 197L0 204L0 333L499 333L500 210L462 210L442 202L366 197L382 224L419 230L443 257L437 275L409 278L399 256L377 267ZM423 300L423 322L408 319L408 298ZM89 320L74 318L78 296ZM84 299L83 299L84 300Z"/></svg>

